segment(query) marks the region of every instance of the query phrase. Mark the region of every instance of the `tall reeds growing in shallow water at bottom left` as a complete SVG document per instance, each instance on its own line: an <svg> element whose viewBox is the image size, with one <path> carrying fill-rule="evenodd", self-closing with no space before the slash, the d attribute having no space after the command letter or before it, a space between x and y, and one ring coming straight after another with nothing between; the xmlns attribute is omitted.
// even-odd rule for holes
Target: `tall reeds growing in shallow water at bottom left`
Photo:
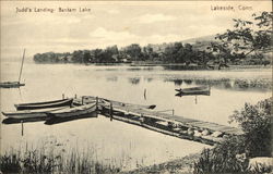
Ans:
<svg viewBox="0 0 273 174"><path fill-rule="evenodd" d="M94 149L69 152L57 146L41 146L37 149L11 148L0 156L0 171L9 173L70 173L70 174L108 174L118 173L120 167L115 162L104 164L94 156Z"/></svg>

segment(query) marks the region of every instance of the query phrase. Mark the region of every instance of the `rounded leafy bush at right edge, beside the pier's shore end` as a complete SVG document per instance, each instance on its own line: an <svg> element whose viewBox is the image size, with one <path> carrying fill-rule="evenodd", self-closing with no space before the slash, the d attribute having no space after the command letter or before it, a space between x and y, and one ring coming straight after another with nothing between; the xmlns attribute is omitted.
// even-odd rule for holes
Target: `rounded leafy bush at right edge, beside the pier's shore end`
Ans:
<svg viewBox="0 0 273 174"><path fill-rule="evenodd" d="M272 99L265 99L256 105L245 104L241 111L235 111L230 122L237 122L245 132L245 148L250 157L268 157L272 152Z"/></svg>

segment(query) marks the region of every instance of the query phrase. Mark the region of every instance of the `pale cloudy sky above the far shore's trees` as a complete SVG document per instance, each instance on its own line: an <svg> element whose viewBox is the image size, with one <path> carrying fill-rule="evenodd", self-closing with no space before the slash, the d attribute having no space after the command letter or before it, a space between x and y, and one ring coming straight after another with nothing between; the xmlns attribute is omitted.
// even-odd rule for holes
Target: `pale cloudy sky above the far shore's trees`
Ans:
<svg viewBox="0 0 273 174"><path fill-rule="evenodd" d="M224 33L271 1L1 1L1 59L43 52L163 44ZM212 10L213 7L235 10ZM239 10L238 7L249 7ZM32 12L16 12L27 8ZM46 9L45 12L35 12ZM59 12L76 9L75 12ZM79 9L90 9L80 12ZM55 12L49 12L54 9Z"/></svg>

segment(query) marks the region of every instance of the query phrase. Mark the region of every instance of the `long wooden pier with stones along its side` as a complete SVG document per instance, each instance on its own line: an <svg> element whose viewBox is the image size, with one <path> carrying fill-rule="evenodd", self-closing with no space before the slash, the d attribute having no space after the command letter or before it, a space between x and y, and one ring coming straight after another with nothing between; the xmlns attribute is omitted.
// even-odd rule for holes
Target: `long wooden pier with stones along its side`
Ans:
<svg viewBox="0 0 273 174"><path fill-rule="evenodd" d="M236 127L151 110L155 105L123 103L92 96L83 96L73 101L75 105L92 102L96 102L98 112L110 120L139 125L182 139L214 145L221 144L226 137L242 135L242 130Z"/></svg>

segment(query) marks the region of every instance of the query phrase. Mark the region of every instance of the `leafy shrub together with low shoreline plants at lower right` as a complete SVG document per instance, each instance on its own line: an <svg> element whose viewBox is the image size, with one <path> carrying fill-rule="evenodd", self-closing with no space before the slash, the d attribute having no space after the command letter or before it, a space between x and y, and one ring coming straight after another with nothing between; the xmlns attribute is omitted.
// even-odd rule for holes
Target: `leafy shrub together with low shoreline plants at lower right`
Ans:
<svg viewBox="0 0 273 174"><path fill-rule="evenodd" d="M230 122L238 122L244 135L225 139L213 149L204 149L194 163L195 174L213 173L263 173L272 167L257 167L249 171L248 158L271 156L272 98L254 105L245 104L241 111L235 111ZM246 154L239 159L238 154Z"/></svg>

